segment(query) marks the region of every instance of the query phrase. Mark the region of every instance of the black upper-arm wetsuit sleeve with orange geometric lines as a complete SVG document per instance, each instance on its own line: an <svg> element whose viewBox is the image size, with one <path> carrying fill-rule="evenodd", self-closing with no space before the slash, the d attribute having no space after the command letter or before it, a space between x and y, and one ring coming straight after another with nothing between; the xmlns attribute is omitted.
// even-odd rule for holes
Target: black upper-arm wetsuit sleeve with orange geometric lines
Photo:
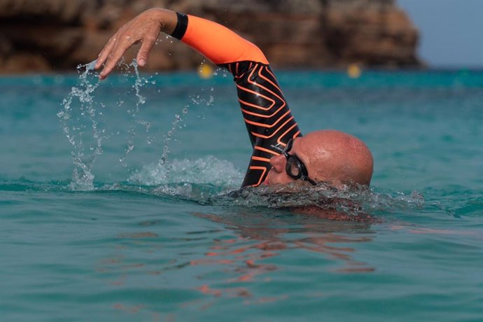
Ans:
<svg viewBox="0 0 483 322"><path fill-rule="evenodd" d="M279 155L288 140L302 134L269 65L233 62L227 68L237 85L238 101L253 147L242 187L265 181L269 160Z"/></svg>

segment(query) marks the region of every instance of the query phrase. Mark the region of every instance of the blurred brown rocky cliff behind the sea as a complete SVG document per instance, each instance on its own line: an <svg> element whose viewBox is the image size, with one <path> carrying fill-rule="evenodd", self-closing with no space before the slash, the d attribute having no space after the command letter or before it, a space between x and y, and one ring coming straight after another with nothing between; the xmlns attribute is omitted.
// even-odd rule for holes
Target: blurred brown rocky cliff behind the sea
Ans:
<svg viewBox="0 0 483 322"><path fill-rule="evenodd" d="M278 67L420 64L418 31L395 0L0 0L0 73L73 71L97 57L118 27L153 7L220 22ZM148 68L190 69L200 60L160 36Z"/></svg>

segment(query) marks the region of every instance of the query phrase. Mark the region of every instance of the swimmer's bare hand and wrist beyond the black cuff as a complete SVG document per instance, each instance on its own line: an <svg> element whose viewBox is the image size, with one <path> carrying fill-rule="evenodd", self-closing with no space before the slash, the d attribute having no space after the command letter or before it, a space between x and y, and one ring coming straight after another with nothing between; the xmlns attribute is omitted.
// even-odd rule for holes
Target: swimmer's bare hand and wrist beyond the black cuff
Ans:
<svg viewBox="0 0 483 322"><path fill-rule="evenodd" d="M178 18L174 11L154 8L144 11L144 13L120 27L99 53L97 63L94 66L94 69L101 69L104 66L99 78L106 78L116 67L126 50L136 43L141 43L136 58L137 64L145 66L160 31L172 34L177 22Z"/></svg>

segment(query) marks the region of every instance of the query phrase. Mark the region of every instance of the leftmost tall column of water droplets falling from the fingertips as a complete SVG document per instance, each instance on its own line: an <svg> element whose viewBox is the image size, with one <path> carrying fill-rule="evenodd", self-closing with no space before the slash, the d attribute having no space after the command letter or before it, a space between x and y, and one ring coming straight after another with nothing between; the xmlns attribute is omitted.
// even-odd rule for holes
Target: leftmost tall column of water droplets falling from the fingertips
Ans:
<svg viewBox="0 0 483 322"><path fill-rule="evenodd" d="M74 169L69 185L71 190L94 189L92 166L96 156L103 152L104 130L99 127L99 121L96 118L93 95L94 90L99 87L99 79L96 77L95 80L92 80L92 77L89 77L95 63L94 60L89 64L77 67L78 73L80 73L80 84L78 87L71 87L71 92L62 102L63 109L57 113L62 130L73 146L71 155ZM73 109L73 104L79 104L79 108ZM84 134L88 131L85 123L90 123L94 139L94 145L91 145L88 150L84 142Z"/></svg>

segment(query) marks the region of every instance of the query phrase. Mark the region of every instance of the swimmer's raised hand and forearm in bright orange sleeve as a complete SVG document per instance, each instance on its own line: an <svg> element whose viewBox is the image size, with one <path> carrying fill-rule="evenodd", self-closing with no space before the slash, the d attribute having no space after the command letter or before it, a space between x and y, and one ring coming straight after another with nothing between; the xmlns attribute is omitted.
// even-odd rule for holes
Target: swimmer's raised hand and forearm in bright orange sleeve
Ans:
<svg viewBox="0 0 483 322"><path fill-rule="evenodd" d="M256 45L216 22L155 8L127 22L109 39L95 65L95 69L100 69L104 64L99 77L106 78L124 52L136 43L141 43L137 62L139 66L144 66L160 31L181 39L215 64L241 61L268 64L267 58Z"/></svg>

